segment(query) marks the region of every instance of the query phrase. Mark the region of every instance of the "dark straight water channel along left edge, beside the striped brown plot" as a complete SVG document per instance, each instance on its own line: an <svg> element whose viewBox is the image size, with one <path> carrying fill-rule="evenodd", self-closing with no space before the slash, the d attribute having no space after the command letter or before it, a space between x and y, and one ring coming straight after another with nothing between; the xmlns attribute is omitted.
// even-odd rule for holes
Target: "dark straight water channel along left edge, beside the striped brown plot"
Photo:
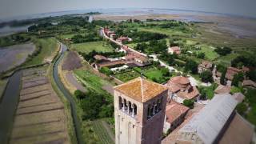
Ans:
<svg viewBox="0 0 256 144"><path fill-rule="evenodd" d="M14 114L18 105L22 71L14 73L6 86L0 103L0 143L8 142L11 127L14 123Z"/></svg>

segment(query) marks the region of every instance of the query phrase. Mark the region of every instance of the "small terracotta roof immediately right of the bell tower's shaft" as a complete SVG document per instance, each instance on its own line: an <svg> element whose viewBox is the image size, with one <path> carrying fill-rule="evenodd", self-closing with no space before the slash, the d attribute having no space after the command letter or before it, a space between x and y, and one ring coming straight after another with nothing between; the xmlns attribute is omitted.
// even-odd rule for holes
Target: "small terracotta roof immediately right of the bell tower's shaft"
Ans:
<svg viewBox="0 0 256 144"><path fill-rule="evenodd" d="M182 114L186 114L186 112L190 110L190 108L174 101L167 102L166 104L166 122L172 123L177 118L179 118Z"/></svg>

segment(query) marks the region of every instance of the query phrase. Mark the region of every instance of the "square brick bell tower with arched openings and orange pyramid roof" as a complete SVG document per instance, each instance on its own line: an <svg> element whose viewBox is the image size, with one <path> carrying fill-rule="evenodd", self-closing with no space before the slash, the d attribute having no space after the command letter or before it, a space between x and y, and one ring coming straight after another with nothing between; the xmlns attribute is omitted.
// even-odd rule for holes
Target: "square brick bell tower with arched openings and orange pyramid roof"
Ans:
<svg viewBox="0 0 256 144"><path fill-rule="evenodd" d="M116 144L160 144L167 89L135 78L114 87Z"/></svg>

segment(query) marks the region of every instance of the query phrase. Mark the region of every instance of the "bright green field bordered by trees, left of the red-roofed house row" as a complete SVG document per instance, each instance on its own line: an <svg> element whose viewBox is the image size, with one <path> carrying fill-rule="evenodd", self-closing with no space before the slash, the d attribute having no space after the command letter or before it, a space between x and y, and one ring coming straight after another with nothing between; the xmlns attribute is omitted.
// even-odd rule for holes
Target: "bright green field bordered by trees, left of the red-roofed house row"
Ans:
<svg viewBox="0 0 256 144"><path fill-rule="evenodd" d="M110 46L110 44L107 44L106 42L103 42L103 41L72 44L71 49L76 50L78 52L87 53L87 54L93 50L98 52L111 52L114 50Z"/></svg>

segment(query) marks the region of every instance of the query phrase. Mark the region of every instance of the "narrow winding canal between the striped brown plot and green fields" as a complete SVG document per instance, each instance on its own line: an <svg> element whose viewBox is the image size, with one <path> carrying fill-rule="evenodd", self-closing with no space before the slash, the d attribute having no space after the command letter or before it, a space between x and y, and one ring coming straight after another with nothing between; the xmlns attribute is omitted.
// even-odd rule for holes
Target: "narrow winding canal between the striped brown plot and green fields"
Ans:
<svg viewBox="0 0 256 144"><path fill-rule="evenodd" d="M65 45L62 45L62 52L61 55L58 57L57 61L54 63L54 81L56 82L59 90L62 91L62 94L66 97L66 99L70 102L70 108L71 108L71 114L74 122L74 128L75 128L75 133L77 136L78 144L84 143L82 140L82 134L80 130L80 122L78 119L78 114L76 113L76 102L74 102L73 96L70 94L68 90L63 86L61 79L58 76L58 65L62 61L62 58L64 57L64 52L67 50L67 47Z"/></svg>

